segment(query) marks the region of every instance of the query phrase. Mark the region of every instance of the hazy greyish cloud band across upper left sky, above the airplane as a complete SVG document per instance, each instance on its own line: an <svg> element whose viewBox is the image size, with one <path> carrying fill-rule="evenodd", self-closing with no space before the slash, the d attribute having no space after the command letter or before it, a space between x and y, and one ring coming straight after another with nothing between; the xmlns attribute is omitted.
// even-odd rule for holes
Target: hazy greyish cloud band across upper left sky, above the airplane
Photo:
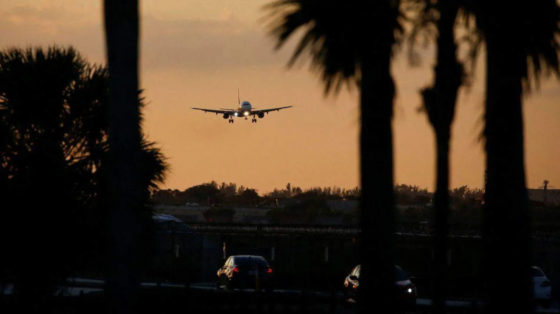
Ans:
<svg viewBox="0 0 560 314"><path fill-rule="evenodd" d="M72 12L60 8L13 6L4 11L7 18L0 20L0 48L73 45L91 61L104 61L101 12L78 21L70 18ZM237 20L228 7L221 17L170 21L142 16L142 69L222 70L286 63L291 50L274 53L273 40L262 27Z"/></svg>

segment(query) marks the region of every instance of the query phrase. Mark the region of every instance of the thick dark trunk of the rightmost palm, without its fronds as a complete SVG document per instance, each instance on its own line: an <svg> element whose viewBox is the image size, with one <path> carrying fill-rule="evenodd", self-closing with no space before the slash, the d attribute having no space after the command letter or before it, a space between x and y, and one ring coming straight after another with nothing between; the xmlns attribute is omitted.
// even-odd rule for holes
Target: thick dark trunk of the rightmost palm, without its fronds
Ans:
<svg viewBox="0 0 560 314"><path fill-rule="evenodd" d="M533 313L521 101L526 59L503 37L508 36L487 31L485 304L488 313ZM505 274L499 283L491 279L496 269Z"/></svg>

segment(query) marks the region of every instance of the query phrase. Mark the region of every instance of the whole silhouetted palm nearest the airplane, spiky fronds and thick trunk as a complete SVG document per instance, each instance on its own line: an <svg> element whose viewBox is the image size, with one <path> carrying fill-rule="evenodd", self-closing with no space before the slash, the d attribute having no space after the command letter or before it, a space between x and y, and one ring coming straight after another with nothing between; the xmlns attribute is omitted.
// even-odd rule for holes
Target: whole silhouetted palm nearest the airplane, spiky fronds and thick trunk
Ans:
<svg viewBox="0 0 560 314"><path fill-rule="evenodd" d="M268 4L272 34L279 49L300 28L306 32L288 66L309 50L312 69L320 70L325 96L342 84L360 88L362 234L360 292L363 300L378 297L382 308L393 308L394 191L393 101L395 85L391 57L402 31L400 1L279 0ZM375 271L374 271L375 269ZM373 280L374 277L377 280ZM384 288L385 287L385 288ZM366 297L367 296L367 297ZM362 311L368 311L361 302Z"/></svg>

